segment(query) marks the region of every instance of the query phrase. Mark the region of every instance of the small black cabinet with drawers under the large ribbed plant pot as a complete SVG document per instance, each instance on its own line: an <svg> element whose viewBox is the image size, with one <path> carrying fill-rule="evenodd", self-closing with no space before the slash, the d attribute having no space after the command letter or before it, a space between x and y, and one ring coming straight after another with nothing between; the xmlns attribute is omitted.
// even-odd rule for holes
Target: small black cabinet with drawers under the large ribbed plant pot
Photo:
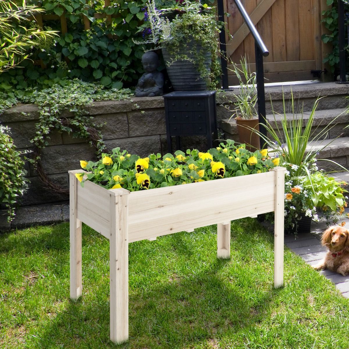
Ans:
<svg viewBox="0 0 349 349"><path fill-rule="evenodd" d="M208 148L217 140L216 91L178 91L164 95L167 145L172 153L171 136L206 136Z"/></svg>

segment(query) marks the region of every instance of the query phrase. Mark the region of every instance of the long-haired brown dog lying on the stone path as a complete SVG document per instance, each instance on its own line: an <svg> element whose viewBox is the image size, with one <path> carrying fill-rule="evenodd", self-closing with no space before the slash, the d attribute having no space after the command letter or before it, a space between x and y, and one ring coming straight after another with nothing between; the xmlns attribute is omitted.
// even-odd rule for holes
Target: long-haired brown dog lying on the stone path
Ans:
<svg viewBox="0 0 349 349"><path fill-rule="evenodd" d="M346 276L349 274L349 230L340 226L329 227L321 238L322 246L328 248L327 254L316 270L329 269Z"/></svg>

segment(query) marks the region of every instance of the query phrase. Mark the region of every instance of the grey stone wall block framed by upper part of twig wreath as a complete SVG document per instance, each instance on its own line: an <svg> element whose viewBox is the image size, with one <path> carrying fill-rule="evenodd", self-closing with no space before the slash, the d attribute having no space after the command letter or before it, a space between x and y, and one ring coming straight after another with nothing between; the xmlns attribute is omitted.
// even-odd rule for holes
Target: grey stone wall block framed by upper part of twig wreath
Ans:
<svg viewBox="0 0 349 349"><path fill-rule="evenodd" d="M96 161L95 148L87 143L67 144L46 147L41 153L42 167L47 174L80 169L80 160ZM33 170L32 173L36 171Z"/></svg>

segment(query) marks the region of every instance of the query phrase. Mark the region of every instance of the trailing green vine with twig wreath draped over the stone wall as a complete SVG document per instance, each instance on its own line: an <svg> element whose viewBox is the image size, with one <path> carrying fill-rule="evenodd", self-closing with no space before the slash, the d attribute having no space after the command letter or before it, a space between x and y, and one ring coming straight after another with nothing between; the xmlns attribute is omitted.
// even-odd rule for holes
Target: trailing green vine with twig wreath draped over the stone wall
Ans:
<svg viewBox="0 0 349 349"><path fill-rule="evenodd" d="M16 96L12 94L8 102L0 103L0 110L2 105L12 106L15 101L33 103L38 106L39 119L35 125L36 134L30 140L34 145L34 156L31 159L28 158L28 161L34 164L39 178L47 188L61 194L68 194L68 190L59 187L47 177L41 165L40 153L48 145L51 132L57 130L72 134L74 138L87 139L89 144L95 147L96 154L101 155L105 149L99 130L102 125L96 124L94 117L88 115L86 106L94 101L129 99L132 93L128 89L105 90L101 85L82 82L78 79L72 80L64 87L54 84L49 89L31 92L31 94L24 95L17 93ZM73 112L73 116L62 117L61 113L64 110Z"/></svg>

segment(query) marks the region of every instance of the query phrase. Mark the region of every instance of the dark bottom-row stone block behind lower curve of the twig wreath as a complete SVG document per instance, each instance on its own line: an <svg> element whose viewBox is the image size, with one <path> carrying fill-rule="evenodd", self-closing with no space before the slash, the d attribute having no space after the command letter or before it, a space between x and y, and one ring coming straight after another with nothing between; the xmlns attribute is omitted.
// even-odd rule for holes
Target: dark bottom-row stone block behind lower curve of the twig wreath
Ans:
<svg viewBox="0 0 349 349"><path fill-rule="evenodd" d="M75 166L74 169L78 169L80 166ZM69 188L68 173L60 173L48 176L55 184L62 188ZM64 201L69 199L68 195L58 194L44 187L44 184L38 177L29 178L28 191L24 193L23 198L20 200L20 205L37 205L46 202Z"/></svg>

